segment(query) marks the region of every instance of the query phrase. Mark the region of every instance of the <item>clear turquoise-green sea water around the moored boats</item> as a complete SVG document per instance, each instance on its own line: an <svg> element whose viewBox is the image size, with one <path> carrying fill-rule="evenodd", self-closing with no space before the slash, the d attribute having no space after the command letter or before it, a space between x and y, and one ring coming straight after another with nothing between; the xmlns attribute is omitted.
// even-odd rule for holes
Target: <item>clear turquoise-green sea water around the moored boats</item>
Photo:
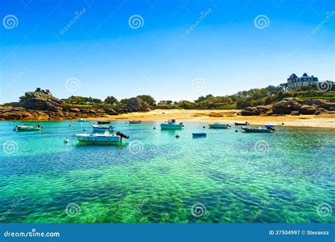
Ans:
<svg viewBox="0 0 335 242"><path fill-rule="evenodd" d="M119 121L122 145L74 146L90 123L38 123L0 123L0 222L335 222L334 129Z"/></svg>

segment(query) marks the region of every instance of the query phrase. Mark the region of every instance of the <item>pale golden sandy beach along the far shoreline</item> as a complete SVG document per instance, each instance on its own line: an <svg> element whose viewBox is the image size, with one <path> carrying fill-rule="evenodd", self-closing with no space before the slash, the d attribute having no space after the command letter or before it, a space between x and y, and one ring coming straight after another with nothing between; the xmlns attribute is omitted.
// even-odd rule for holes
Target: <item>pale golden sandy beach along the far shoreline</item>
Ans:
<svg viewBox="0 0 335 242"><path fill-rule="evenodd" d="M335 128L334 114L300 116L240 116L237 115L238 111L240 110L155 109L148 112L134 112L121 114L119 116L105 116L104 119L141 121L167 121L167 119L177 119L177 121L198 123L243 123L248 121L251 124L274 124L278 126L284 123L284 126Z"/></svg>

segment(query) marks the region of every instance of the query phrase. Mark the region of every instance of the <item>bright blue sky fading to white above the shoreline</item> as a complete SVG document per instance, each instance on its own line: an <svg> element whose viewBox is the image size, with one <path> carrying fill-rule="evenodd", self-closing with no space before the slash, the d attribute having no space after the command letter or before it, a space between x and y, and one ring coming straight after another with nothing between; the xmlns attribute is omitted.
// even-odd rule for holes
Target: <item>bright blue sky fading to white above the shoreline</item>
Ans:
<svg viewBox="0 0 335 242"><path fill-rule="evenodd" d="M60 98L149 94L175 101L278 85L291 73L334 80L332 1L0 5L1 103L17 101L35 87ZM9 15L16 17L14 26L6 22ZM141 17L139 26L129 25L134 15Z"/></svg>

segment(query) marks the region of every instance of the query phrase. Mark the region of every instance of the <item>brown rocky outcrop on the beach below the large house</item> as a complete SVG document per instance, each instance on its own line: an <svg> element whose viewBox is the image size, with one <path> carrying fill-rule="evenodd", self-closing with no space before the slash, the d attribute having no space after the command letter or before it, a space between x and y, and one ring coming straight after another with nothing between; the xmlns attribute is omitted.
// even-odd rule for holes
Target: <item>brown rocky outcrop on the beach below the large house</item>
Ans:
<svg viewBox="0 0 335 242"><path fill-rule="evenodd" d="M281 102L257 107L247 107L240 112L242 116L280 116L280 115L319 115L323 113L334 114L335 102L316 99L303 102L298 98L285 98Z"/></svg>

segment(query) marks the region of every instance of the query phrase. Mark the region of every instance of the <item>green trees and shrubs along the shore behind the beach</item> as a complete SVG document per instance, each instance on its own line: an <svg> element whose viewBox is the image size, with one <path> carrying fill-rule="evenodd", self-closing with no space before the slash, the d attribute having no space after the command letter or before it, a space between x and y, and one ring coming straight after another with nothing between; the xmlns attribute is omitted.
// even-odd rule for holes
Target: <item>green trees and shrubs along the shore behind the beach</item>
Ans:
<svg viewBox="0 0 335 242"><path fill-rule="evenodd" d="M151 109L244 109L245 107L257 105L269 105L279 102L287 97L295 97L304 101L309 99L326 99L335 102L335 90L321 92L316 87L307 86L296 90L284 91L282 87L269 85L264 88L254 88L247 91L237 92L234 95L214 97L209 94L201 96L194 102L182 100L180 102L163 101L156 104L151 95L138 95L150 105ZM129 99L124 98L119 102L113 96L106 97L105 101L93 97L71 96L64 99L65 105L71 107L125 107Z"/></svg>

